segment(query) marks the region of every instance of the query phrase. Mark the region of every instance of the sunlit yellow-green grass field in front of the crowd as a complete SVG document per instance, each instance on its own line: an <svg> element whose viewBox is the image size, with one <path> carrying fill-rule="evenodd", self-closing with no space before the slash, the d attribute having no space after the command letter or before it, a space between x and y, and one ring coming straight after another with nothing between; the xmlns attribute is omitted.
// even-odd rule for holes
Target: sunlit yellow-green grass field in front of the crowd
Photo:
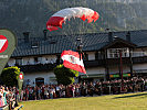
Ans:
<svg viewBox="0 0 147 110"><path fill-rule="evenodd" d="M147 110L147 92L21 102L21 110Z"/></svg>

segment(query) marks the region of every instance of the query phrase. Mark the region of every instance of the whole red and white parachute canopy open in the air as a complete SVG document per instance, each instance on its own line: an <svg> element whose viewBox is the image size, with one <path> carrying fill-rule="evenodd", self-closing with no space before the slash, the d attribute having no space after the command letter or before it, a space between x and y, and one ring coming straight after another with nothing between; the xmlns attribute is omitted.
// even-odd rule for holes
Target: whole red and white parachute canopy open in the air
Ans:
<svg viewBox="0 0 147 110"><path fill-rule="evenodd" d="M88 8L82 8L82 7L76 7L76 8L66 8L63 9L56 13L54 13L49 21L46 22L46 29L49 31L54 31L57 30L57 28L62 29L62 23L66 21L66 19L71 18L80 18L83 21L87 19L87 22L91 23L94 22L99 18L99 14L96 11L93 11L92 9Z"/></svg>

